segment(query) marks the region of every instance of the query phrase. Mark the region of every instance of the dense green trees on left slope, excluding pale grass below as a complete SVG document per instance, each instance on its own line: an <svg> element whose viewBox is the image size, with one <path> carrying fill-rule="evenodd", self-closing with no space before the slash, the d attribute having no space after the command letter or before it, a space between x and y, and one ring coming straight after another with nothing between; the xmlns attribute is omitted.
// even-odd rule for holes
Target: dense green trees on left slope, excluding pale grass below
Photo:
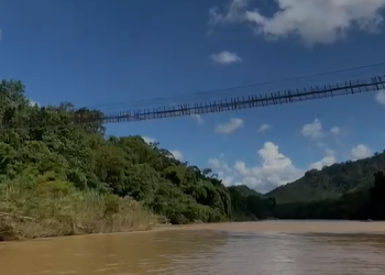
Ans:
<svg viewBox="0 0 385 275"><path fill-rule="evenodd" d="M6 130L0 132L0 186L21 174L31 183L36 177L57 179L80 194L107 196L109 213L119 210L116 197L129 196L175 223L226 221L234 212L244 219L266 216L264 200L233 197L211 169L175 160L160 143L147 144L139 135L106 136L99 110L70 102L33 106L14 80L0 82L0 96Z"/></svg>

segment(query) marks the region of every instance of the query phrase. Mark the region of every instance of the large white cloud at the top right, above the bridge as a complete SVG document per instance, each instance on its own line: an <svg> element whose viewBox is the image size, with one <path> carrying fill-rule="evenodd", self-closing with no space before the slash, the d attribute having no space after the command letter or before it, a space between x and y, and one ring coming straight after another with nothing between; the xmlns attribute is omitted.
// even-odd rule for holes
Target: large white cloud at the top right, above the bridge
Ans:
<svg viewBox="0 0 385 275"><path fill-rule="evenodd" d="M232 0L226 13L210 10L211 28L226 23L251 23L256 34L267 38L296 35L307 45L331 44L350 30L374 32L383 21L385 0L274 0L272 16L248 8L248 0Z"/></svg>

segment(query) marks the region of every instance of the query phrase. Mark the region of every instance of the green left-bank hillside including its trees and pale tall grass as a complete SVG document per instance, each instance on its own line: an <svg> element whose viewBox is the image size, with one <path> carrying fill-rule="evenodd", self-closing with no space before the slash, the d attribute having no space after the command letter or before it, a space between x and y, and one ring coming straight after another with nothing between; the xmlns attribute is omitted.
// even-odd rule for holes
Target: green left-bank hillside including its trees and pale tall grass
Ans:
<svg viewBox="0 0 385 275"><path fill-rule="evenodd" d="M20 81L0 82L0 239L143 229L151 213L186 223L271 211L272 200L229 190L158 143L107 138L101 116L69 102L33 106Z"/></svg>

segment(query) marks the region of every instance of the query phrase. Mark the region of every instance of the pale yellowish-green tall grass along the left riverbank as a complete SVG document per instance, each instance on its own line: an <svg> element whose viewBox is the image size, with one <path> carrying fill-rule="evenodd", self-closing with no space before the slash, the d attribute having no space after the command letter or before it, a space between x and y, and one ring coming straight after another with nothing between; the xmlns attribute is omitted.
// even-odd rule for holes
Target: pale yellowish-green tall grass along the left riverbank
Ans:
<svg viewBox="0 0 385 275"><path fill-rule="evenodd" d="M80 191L48 176L0 183L0 240L148 230L155 222L131 198Z"/></svg>

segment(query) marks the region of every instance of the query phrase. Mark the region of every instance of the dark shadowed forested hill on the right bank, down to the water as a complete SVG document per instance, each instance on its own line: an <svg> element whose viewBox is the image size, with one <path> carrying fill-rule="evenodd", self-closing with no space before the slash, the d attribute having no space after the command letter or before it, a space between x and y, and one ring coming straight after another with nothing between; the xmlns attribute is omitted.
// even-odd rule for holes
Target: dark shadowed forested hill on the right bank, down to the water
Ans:
<svg viewBox="0 0 385 275"><path fill-rule="evenodd" d="M373 157L309 170L267 196L279 219L385 220L385 151Z"/></svg>

